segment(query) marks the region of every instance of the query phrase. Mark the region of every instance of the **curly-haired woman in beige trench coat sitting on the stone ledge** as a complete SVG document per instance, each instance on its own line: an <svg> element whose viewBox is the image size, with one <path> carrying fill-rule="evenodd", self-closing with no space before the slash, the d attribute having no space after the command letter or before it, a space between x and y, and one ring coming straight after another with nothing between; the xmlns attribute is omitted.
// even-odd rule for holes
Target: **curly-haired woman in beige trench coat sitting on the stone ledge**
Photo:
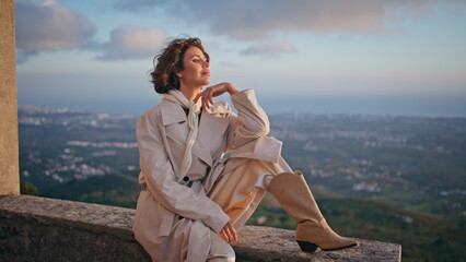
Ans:
<svg viewBox="0 0 466 262"><path fill-rule="evenodd" d="M281 142L266 136L269 121L253 90L220 83L202 91L209 55L198 38L172 40L151 75L163 99L136 126L144 190L133 231L153 261L234 261L229 242L266 190L298 223L303 251L358 245L331 230L303 175L280 156ZM237 115L212 100L224 93Z"/></svg>

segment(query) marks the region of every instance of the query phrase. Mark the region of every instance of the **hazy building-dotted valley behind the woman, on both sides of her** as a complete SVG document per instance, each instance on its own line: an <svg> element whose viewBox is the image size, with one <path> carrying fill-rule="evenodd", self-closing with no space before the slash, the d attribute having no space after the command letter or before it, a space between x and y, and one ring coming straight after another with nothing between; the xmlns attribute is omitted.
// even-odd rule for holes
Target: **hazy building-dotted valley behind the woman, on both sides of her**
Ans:
<svg viewBox="0 0 466 262"><path fill-rule="evenodd" d="M39 189L94 176L136 178L137 118L21 106L22 178ZM466 217L464 118L295 112L271 115L270 121L270 135L284 142L284 158L313 184L401 207L441 198L423 211ZM394 196L400 192L411 199Z"/></svg>

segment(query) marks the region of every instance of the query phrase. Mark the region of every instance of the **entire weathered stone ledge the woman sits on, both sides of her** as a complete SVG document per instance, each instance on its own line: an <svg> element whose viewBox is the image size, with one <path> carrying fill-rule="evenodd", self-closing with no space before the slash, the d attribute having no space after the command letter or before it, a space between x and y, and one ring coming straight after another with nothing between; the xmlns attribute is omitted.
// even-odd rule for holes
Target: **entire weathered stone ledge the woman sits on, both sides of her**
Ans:
<svg viewBox="0 0 466 262"><path fill-rule="evenodd" d="M131 230L135 211L30 195L0 196L0 261L150 261ZM293 230L245 226L237 261L400 261L401 247L360 239L358 248L300 251Z"/></svg>

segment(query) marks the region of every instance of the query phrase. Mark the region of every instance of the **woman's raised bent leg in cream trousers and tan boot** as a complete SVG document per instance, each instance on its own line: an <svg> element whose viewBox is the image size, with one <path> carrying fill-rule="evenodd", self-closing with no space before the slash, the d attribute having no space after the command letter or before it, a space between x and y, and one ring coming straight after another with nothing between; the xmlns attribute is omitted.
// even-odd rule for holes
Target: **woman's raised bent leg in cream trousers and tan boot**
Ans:
<svg viewBox="0 0 466 262"><path fill-rule="evenodd" d="M326 223L314 196L300 172L293 172L280 157L276 164L256 159L233 158L226 163L223 177L209 193L233 225L241 227L268 190L296 222L296 240L303 251L339 250L358 246L340 237Z"/></svg>

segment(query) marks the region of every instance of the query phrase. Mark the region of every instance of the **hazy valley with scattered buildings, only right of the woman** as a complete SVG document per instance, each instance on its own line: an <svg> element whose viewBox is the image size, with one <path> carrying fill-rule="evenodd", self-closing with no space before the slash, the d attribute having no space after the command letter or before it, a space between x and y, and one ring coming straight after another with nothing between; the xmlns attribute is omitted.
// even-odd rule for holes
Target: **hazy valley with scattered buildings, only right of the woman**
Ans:
<svg viewBox="0 0 466 262"><path fill-rule="evenodd" d="M466 119L341 114L270 119L271 135L286 142L286 157L311 181L361 198L393 199L405 191L426 201L427 193L459 195L447 209L466 217Z"/></svg>

